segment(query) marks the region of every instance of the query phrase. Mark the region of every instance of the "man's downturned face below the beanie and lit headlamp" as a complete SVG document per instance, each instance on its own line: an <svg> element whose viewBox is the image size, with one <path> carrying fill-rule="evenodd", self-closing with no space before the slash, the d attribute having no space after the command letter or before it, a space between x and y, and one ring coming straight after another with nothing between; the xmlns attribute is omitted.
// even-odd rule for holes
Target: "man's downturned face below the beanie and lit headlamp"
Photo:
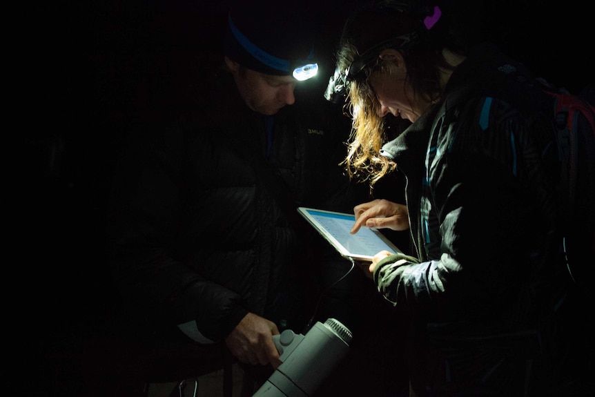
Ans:
<svg viewBox="0 0 595 397"><path fill-rule="evenodd" d="M235 85L249 108L262 115L274 115L283 106L295 102L293 90L297 80L291 76L264 75L240 68L237 62L225 58Z"/></svg>

